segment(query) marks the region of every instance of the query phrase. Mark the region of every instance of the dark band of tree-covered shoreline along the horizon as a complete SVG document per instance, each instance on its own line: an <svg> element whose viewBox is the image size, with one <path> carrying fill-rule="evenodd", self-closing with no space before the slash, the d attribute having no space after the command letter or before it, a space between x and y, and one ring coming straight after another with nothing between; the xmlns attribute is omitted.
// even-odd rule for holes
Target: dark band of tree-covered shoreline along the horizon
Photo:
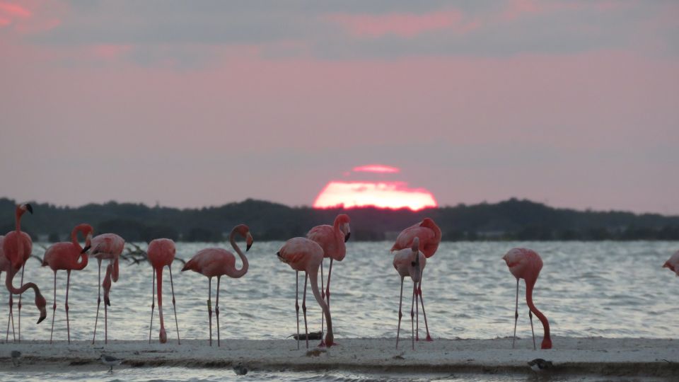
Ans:
<svg viewBox="0 0 679 382"><path fill-rule="evenodd" d="M410 209L313 209L246 199L219 207L178 209L107 202L57 207L31 202L33 216L21 221L33 240L69 240L71 228L91 224L95 233L117 233L126 241L224 241L245 223L257 241L303 236L318 224L332 224L340 213L352 219L352 241L392 240L407 226L429 216L441 227L443 241L632 241L679 240L679 216L557 209L530 200L495 204L458 204L412 212ZM16 201L0 198L0 233L14 228Z"/></svg>

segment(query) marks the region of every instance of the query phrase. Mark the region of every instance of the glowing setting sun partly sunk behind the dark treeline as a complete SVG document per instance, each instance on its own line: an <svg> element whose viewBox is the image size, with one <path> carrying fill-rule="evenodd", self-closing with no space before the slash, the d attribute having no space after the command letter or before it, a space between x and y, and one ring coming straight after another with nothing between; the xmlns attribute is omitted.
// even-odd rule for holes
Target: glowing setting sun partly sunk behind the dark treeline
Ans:
<svg viewBox="0 0 679 382"><path fill-rule="evenodd" d="M354 173L399 173L400 168L368 165L353 169ZM410 188L394 180L331 180L316 197L314 208L378 207L410 208L413 211L437 207L436 199L424 188Z"/></svg>

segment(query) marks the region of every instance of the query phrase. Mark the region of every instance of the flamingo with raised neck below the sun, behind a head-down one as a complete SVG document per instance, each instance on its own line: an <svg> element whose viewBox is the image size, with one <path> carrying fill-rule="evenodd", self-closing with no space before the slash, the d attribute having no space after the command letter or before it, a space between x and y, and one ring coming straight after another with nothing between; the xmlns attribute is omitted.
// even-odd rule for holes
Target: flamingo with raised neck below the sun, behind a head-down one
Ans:
<svg viewBox="0 0 679 382"><path fill-rule="evenodd" d="M306 234L306 238L318 243L323 248L323 257L330 257L330 267L327 270L327 286L323 291L323 262L320 263L320 296L325 299L327 296L327 308L330 308L330 272L332 272L332 260L342 261L347 253L347 246L344 244L349 240L352 231L349 228L349 216L339 214L335 217L332 226L324 224L315 226ZM320 320L320 332L323 335L323 316Z"/></svg>

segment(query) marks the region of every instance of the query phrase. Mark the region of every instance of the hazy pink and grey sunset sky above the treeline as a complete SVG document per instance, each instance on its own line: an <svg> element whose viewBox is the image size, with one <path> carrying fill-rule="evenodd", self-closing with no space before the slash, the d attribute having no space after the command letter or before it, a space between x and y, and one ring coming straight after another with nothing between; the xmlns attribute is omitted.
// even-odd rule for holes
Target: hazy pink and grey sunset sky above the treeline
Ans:
<svg viewBox="0 0 679 382"><path fill-rule="evenodd" d="M677 1L0 0L0 196L679 214Z"/></svg>

